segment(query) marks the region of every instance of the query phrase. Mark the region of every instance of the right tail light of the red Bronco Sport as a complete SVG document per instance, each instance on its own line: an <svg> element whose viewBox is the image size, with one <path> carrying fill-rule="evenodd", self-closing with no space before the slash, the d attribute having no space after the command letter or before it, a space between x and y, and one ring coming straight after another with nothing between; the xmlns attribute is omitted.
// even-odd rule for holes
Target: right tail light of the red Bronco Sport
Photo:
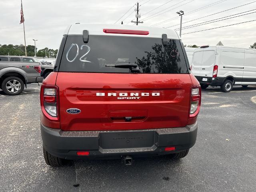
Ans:
<svg viewBox="0 0 256 192"><path fill-rule="evenodd" d="M201 106L201 87L192 86L191 97L190 97L190 110L188 124L194 124L196 122L198 113Z"/></svg>

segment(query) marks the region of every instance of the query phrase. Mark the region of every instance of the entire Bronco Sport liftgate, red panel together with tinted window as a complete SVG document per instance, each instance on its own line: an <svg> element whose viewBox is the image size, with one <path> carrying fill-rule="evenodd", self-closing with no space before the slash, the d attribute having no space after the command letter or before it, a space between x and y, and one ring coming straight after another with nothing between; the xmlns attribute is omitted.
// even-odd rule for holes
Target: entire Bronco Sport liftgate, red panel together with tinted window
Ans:
<svg viewBox="0 0 256 192"><path fill-rule="evenodd" d="M68 35L56 85L62 130L138 130L188 123L192 81L178 39L168 39L163 46L162 35L90 34L88 43L82 35Z"/></svg>

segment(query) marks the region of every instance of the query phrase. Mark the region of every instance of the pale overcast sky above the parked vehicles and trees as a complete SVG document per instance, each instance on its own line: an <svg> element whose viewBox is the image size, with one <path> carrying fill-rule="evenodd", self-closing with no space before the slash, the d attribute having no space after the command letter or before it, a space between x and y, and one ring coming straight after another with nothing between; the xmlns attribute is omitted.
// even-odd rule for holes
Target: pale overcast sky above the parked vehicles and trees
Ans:
<svg viewBox="0 0 256 192"><path fill-rule="evenodd" d="M167 12L154 18L151 18L152 16L148 17L150 19L145 20L144 23L140 25L152 26L153 24L174 18L178 16L176 12L180 10L185 12L183 17L184 23L196 18L250 3L254 0L224 0L219 4L188 15L186 15L186 13L193 10L198 10L199 8L220 0L169 1L170 0L142 0L140 2L142 5L140 6L140 20L144 20L153 14L155 14L153 16L156 16L157 12L159 12L158 14L166 11ZM157 8L164 3L166 4ZM76 22L114 24L114 22L116 22L118 18L120 18L133 5L135 5L134 0L23 0L26 44L33 45L34 41L32 39L38 39L36 42L38 49L45 47L58 49L62 39L62 34L69 24L74 24ZM0 0L0 8L0 44L24 44L23 25L19 24L20 0ZM166 10L162 11L164 9ZM193 25L253 9L256 9L256 2L247 6L222 12L220 14L195 20L193 22L184 23L183 26ZM146 14L146 12L149 13ZM132 14L126 18L130 13ZM126 24L134 18L135 12L134 8L132 8L118 23L125 19L124 24ZM182 30L182 33L205 30L250 20L256 20L256 13L184 29ZM177 25L179 23L180 18L176 18L160 24L157 27L168 27ZM129 23L129 25L131 24L132 23ZM179 28L179 25L172 28ZM216 45L219 41L221 41L225 46L248 48L250 45L256 42L256 21L192 34L184 34L182 35L182 41L184 44L196 45Z"/></svg>

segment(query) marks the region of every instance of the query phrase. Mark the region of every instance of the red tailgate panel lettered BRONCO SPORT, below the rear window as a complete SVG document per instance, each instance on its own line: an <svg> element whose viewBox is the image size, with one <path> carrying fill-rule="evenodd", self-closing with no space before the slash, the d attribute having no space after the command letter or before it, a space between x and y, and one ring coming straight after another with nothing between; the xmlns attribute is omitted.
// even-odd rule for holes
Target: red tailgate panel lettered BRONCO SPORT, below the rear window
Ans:
<svg viewBox="0 0 256 192"><path fill-rule="evenodd" d="M191 84L189 74L58 72L61 129L184 127ZM70 108L81 112L69 114Z"/></svg>

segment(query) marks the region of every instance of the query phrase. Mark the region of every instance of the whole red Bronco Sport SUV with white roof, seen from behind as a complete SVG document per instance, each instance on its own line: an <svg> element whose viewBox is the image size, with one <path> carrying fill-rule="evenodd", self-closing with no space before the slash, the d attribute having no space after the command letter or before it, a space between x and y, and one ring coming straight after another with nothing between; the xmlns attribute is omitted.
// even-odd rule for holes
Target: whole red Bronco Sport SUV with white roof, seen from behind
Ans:
<svg viewBox="0 0 256 192"><path fill-rule="evenodd" d="M74 24L41 87L46 164L183 158L196 142L201 88L174 30Z"/></svg>

